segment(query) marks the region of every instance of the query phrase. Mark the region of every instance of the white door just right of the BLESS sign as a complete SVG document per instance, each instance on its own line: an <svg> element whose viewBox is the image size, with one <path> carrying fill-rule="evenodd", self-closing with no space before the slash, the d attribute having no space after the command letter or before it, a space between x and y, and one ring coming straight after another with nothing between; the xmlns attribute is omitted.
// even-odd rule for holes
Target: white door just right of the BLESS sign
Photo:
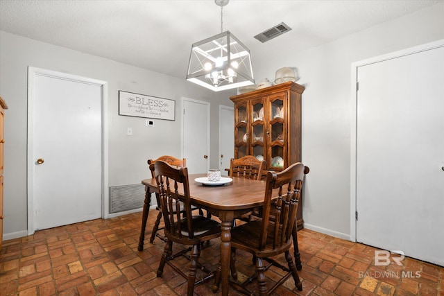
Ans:
<svg viewBox="0 0 444 296"><path fill-rule="evenodd" d="M183 157L189 174L207 173L210 161L210 103L183 101Z"/></svg>

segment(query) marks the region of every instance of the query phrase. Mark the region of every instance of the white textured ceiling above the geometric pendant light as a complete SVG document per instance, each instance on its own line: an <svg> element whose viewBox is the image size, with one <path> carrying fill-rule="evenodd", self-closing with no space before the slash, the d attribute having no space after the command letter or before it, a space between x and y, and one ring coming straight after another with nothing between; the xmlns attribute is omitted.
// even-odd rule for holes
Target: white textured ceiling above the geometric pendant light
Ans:
<svg viewBox="0 0 444 296"><path fill-rule="evenodd" d="M229 30L257 61L336 40L443 0L254 1L223 8ZM284 22L266 43L253 36ZM221 8L201 1L0 0L0 30L185 79L191 44L221 32Z"/></svg>

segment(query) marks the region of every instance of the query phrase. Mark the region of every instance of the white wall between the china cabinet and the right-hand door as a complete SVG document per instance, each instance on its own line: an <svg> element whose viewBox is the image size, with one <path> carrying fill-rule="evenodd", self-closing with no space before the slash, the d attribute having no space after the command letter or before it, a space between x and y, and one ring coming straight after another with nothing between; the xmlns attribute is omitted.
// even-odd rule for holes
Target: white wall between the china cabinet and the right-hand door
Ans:
<svg viewBox="0 0 444 296"><path fill-rule="evenodd" d="M302 162L310 168L303 201L306 227L350 236L352 62L443 38L444 3L440 3L314 49L298 53L280 49L273 60L256 67L256 77L271 78L275 69L297 67L298 83L306 87L302 94Z"/></svg>

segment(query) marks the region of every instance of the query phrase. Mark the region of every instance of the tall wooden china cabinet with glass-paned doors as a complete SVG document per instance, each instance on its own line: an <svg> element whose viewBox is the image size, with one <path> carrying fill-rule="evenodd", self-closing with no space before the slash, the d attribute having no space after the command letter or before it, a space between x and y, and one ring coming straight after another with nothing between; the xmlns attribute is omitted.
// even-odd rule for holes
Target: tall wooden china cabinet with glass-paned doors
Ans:
<svg viewBox="0 0 444 296"><path fill-rule="evenodd" d="M283 171L301 162L301 96L296 82L257 89L230 97L234 102L234 158L265 159L267 171ZM308 173L308 168L306 169ZM297 213L303 227L302 198Z"/></svg>

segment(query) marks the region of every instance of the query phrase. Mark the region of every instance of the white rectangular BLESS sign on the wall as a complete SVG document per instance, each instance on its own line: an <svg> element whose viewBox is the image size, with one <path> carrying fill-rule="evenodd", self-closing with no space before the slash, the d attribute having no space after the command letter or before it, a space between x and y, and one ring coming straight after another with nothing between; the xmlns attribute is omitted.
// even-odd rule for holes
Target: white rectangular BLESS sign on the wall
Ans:
<svg viewBox="0 0 444 296"><path fill-rule="evenodd" d="M119 90L119 115L175 120L176 101Z"/></svg>

